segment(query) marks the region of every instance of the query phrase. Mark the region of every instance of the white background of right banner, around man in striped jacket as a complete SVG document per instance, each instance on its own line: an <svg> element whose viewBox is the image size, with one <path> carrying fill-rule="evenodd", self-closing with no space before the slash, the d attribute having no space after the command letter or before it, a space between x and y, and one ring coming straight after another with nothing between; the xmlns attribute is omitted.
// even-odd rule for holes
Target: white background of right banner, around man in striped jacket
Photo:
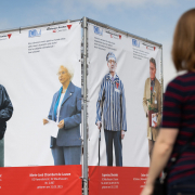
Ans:
<svg viewBox="0 0 195 195"><path fill-rule="evenodd" d="M146 78L150 77L150 58L154 57L157 64L156 77L160 79L161 50L156 47L150 51L141 40L140 49L148 52L147 58L133 58L132 38L121 35L120 39L110 38L103 29L103 36L94 34L93 25L89 24L89 75L88 75L88 123L89 123L89 165L96 166L99 160L99 129L95 126L96 100L103 77L108 73L106 54L114 52L117 58L117 75L123 82L127 110L127 132L122 140L122 162L128 167L148 167L148 141L146 138L146 117L143 109L143 92ZM115 32L117 34L117 32ZM100 50L94 48L94 37L115 42L114 48ZM145 42L146 43L146 42ZM147 46L152 46L146 43ZM154 47L154 46L152 46ZM104 130L101 132L101 166L106 166L106 151ZM115 155L114 155L115 156ZM115 162L114 162L115 165Z"/></svg>

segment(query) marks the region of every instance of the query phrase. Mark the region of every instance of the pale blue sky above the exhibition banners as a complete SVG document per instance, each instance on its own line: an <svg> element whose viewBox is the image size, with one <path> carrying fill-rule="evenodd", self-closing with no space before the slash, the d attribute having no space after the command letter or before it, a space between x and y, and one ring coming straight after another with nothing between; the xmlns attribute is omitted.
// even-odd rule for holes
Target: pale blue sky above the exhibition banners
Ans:
<svg viewBox="0 0 195 195"><path fill-rule="evenodd" d="M180 15L195 0L1 0L0 29L82 16L159 42L164 47L165 86L176 76L170 51Z"/></svg>

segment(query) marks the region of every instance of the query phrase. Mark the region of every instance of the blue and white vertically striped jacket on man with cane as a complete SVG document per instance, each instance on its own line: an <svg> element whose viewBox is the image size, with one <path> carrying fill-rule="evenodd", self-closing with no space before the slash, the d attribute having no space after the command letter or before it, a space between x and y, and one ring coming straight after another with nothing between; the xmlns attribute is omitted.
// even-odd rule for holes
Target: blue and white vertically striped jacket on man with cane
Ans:
<svg viewBox="0 0 195 195"><path fill-rule="evenodd" d="M103 78L96 102L95 123L102 122L102 113L104 129L127 131L125 89L117 75L115 75L114 81L110 79L110 74Z"/></svg>

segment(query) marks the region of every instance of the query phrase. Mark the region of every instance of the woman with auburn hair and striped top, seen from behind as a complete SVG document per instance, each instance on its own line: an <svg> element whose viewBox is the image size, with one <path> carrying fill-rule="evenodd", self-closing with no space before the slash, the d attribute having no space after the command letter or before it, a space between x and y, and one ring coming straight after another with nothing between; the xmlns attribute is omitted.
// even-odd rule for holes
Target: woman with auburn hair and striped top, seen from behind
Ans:
<svg viewBox="0 0 195 195"><path fill-rule="evenodd" d="M177 24L172 60L178 72L186 73L167 87L161 129L141 195L153 194L155 180L166 165L167 194L195 194L195 9L185 12Z"/></svg>

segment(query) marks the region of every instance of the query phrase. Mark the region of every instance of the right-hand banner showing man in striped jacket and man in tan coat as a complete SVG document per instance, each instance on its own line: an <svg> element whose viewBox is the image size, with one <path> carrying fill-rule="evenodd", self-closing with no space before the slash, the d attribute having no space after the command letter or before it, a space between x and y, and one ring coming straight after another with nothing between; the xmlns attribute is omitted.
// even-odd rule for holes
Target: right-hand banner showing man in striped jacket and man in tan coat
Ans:
<svg viewBox="0 0 195 195"><path fill-rule="evenodd" d="M144 183L131 179L146 174L161 119L161 49L93 24L88 35L89 166L110 166L90 168L90 193L102 188L104 169L121 177L120 190L135 187L135 195ZM121 184L126 179L131 190ZM104 193L115 194L112 187Z"/></svg>

